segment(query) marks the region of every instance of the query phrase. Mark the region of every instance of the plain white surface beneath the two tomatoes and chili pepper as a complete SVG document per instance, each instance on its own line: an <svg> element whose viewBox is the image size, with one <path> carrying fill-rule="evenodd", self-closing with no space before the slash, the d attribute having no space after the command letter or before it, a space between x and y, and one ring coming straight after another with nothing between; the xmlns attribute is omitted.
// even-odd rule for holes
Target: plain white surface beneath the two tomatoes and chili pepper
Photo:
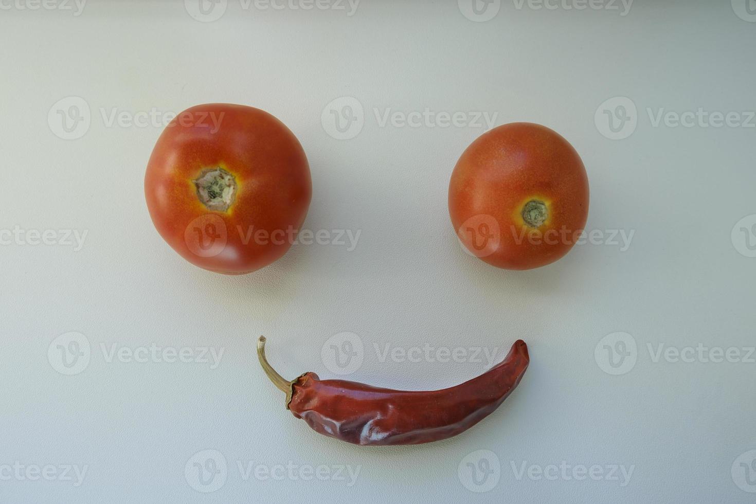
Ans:
<svg viewBox="0 0 756 504"><path fill-rule="evenodd" d="M76 251L18 240L0 247L0 501L756 500L746 491L756 491L756 467L748 484L740 465L756 449L756 364L742 358L754 345L756 258L747 255L756 218L735 227L756 214L748 119L756 23L745 3L639 1L621 15L621 4L578 11L564 7L571 2L555 10L502 2L495 17L476 22L456 2L363 0L348 16L348 5L274 10L230 0L218 20L200 22L181 2L91 1L76 16L73 4L32 11L20 7L33 2L19 1L0 11L0 228L87 234ZM90 118L72 140L60 138L57 113L69 111L71 102L58 104L67 97L84 100ZM363 128L348 140L321 121L339 97L364 110ZM621 140L604 135L603 111L616 119L627 104L600 107L613 97L637 107ZM313 179L305 227L360 230L354 250L294 246L271 267L225 277L163 243L142 187L162 125L109 125L107 117L214 101L268 110L292 129ZM426 107L559 131L586 165L588 230L632 231L630 246L576 246L522 272L466 255L448 218L448 179L485 127L376 119ZM699 107L740 113L751 126L652 122L660 110ZM91 350L66 376L56 338L71 331ZM498 360L522 338L532 360L507 402L456 438L355 447L294 419L254 357L265 334L284 376L336 377L321 349L340 332L364 343L348 378L392 388L455 385L488 363L382 362L376 347L483 348L501 352ZM615 332L637 344L634 366L617 376L603 370L612 368L602 339ZM215 369L109 357L151 344L223 354ZM671 362L655 357L659 345L742 354L735 363L698 354ZM202 450L227 462L212 493L194 488L213 487L197 482L193 462L205 455L192 457ZM466 465L484 467L476 450L492 452L483 485ZM566 476L518 479L523 464L550 471L562 461ZM293 465L295 475L245 479L238 467L250 464ZM25 472L45 465L57 475L64 465L87 472L78 486L73 471L73 481ZM345 480L299 478L299 468L306 475L319 465L343 466ZM604 477L575 481L576 465L599 465ZM629 481L619 471L619 481L607 480L611 465L632 467Z"/></svg>

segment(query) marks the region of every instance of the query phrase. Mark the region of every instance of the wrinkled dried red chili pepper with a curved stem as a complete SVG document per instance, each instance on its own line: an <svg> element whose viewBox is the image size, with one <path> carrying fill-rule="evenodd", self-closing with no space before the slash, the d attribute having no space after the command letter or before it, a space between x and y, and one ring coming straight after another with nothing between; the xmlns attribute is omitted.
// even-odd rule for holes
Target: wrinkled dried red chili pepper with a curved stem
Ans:
<svg viewBox="0 0 756 504"><path fill-rule="evenodd" d="M396 391L305 373L288 381L265 359L265 374L287 394L287 409L315 431L354 444L420 444L451 438L480 422L503 402L525 374L528 346L517 340L507 357L477 378L437 391Z"/></svg>

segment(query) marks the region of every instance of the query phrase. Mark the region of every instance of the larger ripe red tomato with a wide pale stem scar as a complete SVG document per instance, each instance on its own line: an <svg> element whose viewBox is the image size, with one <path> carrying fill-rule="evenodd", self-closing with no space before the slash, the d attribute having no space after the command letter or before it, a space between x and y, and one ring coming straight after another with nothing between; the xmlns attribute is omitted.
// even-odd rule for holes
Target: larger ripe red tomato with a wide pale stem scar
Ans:
<svg viewBox="0 0 756 504"><path fill-rule="evenodd" d="M305 151L271 114L231 104L178 114L144 176L160 236L209 271L245 274L287 252L312 187Z"/></svg>

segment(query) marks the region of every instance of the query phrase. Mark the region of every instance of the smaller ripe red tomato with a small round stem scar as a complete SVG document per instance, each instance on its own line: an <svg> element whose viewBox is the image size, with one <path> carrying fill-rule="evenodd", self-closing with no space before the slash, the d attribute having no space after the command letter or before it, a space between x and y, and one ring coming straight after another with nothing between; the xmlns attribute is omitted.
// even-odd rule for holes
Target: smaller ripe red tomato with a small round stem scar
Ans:
<svg viewBox="0 0 756 504"><path fill-rule="evenodd" d="M583 162L555 131L498 126L467 147L451 174L449 214L472 255L510 270L544 266L581 237L588 217Z"/></svg>

